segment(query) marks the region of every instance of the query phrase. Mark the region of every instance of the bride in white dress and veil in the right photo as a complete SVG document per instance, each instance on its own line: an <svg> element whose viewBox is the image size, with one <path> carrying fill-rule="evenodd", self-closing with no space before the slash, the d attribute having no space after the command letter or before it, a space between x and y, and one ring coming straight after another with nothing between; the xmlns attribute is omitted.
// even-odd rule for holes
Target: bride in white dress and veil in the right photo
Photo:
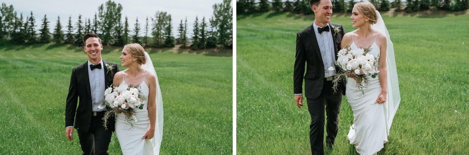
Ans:
<svg viewBox="0 0 469 155"><path fill-rule="evenodd" d="M354 28L344 35L342 48L371 48L369 52L378 59L378 76L363 83L363 92L357 88L357 78L348 78L346 96L353 111L353 125L348 140L360 155L376 155L384 148L389 128L401 97L394 60L393 43L383 19L370 2L356 3L350 17ZM372 25L373 24L373 25Z"/></svg>

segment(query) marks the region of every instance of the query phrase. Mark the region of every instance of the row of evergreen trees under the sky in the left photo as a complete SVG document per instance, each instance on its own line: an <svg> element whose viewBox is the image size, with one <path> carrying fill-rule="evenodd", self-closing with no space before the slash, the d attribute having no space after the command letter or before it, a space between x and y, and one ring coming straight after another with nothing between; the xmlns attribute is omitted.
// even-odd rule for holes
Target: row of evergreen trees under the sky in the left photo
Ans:
<svg viewBox="0 0 469 155"><path fill-rule="evenodd" d="M68 22L62 26L58 16L53 32L49 30L47 16L42 18L41 28L35 30L36 19L31 11L26 17L17 15L13 5L2 3L0 7L0 37L4 42L14 44L55 43L74 44L83 46L84 34L93 32L99 35L102 44L106 46L123 46L129 43L139 43L145 47L174 47L181 44L181 48L193 50L222 46L232 48L233 42L233 14L231 0L223 0L213 5L213 15L208 21L205 17L196 17L192 33L187 33L187 17L180 23L177 37L173 35L173 19L167 12L157 11L154 16L144 19L144 25L139 23L138 17L133 29L130 30L129 18L122 18L122 6L111 0L98 7L98 13L93 18L83 18L78 15L78 21L73 22L68 16Z"/></svg>

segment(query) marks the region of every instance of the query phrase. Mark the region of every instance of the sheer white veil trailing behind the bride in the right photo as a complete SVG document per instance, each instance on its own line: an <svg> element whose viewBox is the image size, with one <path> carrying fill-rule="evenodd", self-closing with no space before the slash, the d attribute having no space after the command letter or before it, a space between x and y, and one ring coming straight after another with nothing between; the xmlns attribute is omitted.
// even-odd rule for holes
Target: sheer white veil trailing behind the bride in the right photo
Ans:
<svg viewBox="0 0 469 155"><path fill-rule="evenodd" d="M399 103L401 102L401 95L399 93L399 81L397 80L397 69L396 69L396 60L394 59L394 46L393 42L389 37L389 32L386 29L386 25L379 14L378 21L376 24L371 25L371 29L377 30L386 35L387 40L387 50L386 50L386 66L387 66L387 101L384 103L384 110L385 110L385 118L387 120L386 123L386 131L387 135L389 135L389 129L391 128L391 124L393 123L394 115L396 114L397 108L399 107Z"/></svg>

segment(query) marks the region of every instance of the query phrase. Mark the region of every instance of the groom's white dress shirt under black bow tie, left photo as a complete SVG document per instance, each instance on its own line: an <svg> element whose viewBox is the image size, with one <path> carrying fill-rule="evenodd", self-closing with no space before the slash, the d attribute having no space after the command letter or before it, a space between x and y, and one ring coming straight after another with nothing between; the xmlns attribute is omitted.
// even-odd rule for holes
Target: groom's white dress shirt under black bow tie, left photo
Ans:
<svg viewBox="0 0 469 155"><path fill-rule="evenodd" d="M101 69L95 68L90 69L92 64L88 61L88 78L90 79L90 90L91 90L91 103L93 106L93 111L104 111L106 104L104 103L104 90L105 90L105 81L104 81L104 64L103 60L99 62L101 64Z"/></svg>

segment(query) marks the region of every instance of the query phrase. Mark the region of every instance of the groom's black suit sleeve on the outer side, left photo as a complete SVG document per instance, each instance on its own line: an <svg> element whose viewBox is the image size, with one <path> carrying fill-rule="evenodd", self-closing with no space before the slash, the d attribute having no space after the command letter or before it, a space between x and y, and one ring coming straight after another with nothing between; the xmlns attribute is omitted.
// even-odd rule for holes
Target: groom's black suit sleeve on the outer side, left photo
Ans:
<svg viewBox="0 0 469 155"><path fill-rule="evenodd" d="M75 122L76 104L78 100L78 82L76 80L75 68L70 77L70 87L68 88L67 102L65 105L65 127L73 126Z"/></svg>

